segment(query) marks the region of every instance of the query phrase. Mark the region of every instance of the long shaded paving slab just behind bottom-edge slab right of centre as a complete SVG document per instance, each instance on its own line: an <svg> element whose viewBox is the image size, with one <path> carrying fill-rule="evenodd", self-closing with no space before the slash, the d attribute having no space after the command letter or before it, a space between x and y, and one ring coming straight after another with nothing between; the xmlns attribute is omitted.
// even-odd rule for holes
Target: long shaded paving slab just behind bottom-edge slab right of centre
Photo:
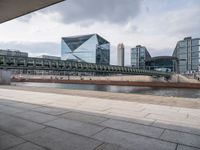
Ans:
<svg viewBox="0 0 200 150"><path fill-rule="evenodd" d="M140 134L140 135L155 137L155 138L159 138L162 132L164 131L164 129L160 129L160 128L155 128L155 127L140 125L140 124L135 124L135 123L128 123L128 122L112 120L112 119L101 123L101 125L118 129L118 130Z"/></svg>

